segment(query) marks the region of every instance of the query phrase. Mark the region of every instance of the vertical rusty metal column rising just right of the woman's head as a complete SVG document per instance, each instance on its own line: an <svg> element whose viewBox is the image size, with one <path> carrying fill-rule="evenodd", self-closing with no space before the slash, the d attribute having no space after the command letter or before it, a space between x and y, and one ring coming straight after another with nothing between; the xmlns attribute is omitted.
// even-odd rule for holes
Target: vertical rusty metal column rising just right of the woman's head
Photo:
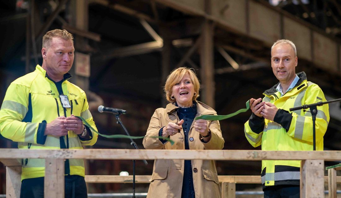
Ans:
<svg viewBox="0 0 341 198"><path fill-rule="evenodd" d="M202 32L203 41L201 42L200 65L202 101L214 109L214 45L213 45L213 24L206 20Z"/></svg>

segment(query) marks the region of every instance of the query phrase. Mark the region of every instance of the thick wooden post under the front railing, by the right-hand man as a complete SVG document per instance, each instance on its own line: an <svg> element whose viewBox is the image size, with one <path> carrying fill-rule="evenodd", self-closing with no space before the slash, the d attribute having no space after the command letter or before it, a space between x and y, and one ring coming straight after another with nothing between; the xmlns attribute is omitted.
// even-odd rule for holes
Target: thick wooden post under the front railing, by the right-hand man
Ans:
<svg viewBox="0 0 341 198"><path fill-rule="evenodd" d="M300 197L324 198L324 161L302 160Z"/></svg>

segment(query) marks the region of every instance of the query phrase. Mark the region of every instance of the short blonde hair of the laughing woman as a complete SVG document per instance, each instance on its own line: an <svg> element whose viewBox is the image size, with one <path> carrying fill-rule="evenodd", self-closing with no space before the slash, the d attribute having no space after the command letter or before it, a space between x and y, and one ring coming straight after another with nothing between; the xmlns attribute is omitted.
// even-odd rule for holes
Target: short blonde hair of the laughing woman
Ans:
<svg viewBox="0 0 341 198"><path fill-rule="evenodd" d="M193 83L193 87L194 87L194 93L196 93L193 96L192 100L196 100L197 97L199 96L200 83L199 83L198 77L194 73L194 69L187 68L187 67L179 67L177 69L174 69L168 75L167 80L166 80L166 84L165 84L164 89L163 89L165 91L166 99L169 102L175 102L175 99L172 100L172 98L170 98L170 96L172 96L173 86L175 84L177 84L178 82L180 82L181 79L183 78L183 76L186 75L187 73L190 75L190 79L191 79L191 81Z"/></svg>

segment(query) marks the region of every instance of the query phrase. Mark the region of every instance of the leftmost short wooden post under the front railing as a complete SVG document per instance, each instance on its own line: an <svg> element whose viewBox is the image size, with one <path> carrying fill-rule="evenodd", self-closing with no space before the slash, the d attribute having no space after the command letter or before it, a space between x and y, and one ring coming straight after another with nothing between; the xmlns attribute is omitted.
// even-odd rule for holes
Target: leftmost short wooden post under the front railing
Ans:
<svg viewBox="0 0 341 198"><path fill-rule="evenodd" d="M19 198L21 187L21 166L6 167L6 197Z"/></svg>

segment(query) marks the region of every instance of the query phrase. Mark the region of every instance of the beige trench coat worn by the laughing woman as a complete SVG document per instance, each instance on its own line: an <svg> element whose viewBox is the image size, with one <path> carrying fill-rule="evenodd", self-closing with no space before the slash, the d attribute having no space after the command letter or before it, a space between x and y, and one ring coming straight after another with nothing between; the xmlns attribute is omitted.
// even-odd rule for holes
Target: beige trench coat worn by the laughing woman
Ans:
<svg viewBox="0 0 341 198"><path fill-rule="evenodd" d="M147 134L143 139L143 145L146 149L185 149L184 132L170 136L175 143L169 142L162 144L159 139L148 138L148 136L159 136L159 130L169 122L176 123L179 120L176 117L174 104L168 104L166 109L159 108L155 110L151 117ZM197 102L197 116L216 115L216 111L202 102ZM191 150L195 149L222 149L224 139L221 134L219 121L209 121L208 127L211 131L211 139L204 143L201 136L194 128L194 122L189 131L189 141ZM221 189L218 181L216 165L213 160L191 160L193 170L193 185L196 198L220 198ZM156 159L154 161L153 174L150 180L147 198L180 198L182 190L184 160L165 160Z"/></svg>

